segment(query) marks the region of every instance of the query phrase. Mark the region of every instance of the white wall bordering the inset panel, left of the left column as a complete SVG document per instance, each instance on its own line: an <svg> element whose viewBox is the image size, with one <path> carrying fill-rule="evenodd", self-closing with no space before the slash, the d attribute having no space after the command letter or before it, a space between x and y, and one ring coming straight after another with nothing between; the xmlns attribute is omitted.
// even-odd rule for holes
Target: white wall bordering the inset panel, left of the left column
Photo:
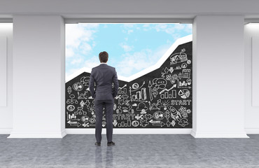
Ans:
<svg viewBox="0 0 259 168"><path fill-rule="evenodd" d="M13 127L13 24L0 23L0 36L7 37L7 106L0 106L0 134L9 134Z"/></svg>

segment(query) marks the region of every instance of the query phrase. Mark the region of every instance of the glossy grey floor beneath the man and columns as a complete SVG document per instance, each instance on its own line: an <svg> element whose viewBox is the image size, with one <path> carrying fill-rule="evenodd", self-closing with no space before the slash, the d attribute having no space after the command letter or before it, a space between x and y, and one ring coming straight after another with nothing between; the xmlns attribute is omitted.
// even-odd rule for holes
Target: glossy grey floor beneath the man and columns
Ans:
<svg viewBox="0 0 259 168"><path fill-rule="evenodd" d="M94 135L6 137L0 135L0 167L259 167L259 135L249 135L250 139L114 135L116 146L109 147L106 141L94 146Z"/></svg>

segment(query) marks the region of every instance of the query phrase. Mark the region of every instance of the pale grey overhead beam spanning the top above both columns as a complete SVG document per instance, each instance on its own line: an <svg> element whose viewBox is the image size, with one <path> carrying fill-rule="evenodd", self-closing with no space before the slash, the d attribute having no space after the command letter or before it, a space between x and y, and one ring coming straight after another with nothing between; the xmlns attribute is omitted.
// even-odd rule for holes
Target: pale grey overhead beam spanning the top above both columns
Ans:
<svg viewBox="0 0 259 168"><path fill-rule="evenodd" d="M1 0L0 14L65 18L193 18L195 15L258 15L255 0Z"/></svg>

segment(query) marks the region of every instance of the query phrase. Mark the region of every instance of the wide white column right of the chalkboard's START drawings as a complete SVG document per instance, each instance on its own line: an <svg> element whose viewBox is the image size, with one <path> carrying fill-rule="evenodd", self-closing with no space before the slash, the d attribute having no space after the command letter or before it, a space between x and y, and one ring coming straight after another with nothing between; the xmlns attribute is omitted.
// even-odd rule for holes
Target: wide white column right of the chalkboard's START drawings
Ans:
<svg viewBox="0 0 259 168"><path fill-rule="evenodd" d="M195 138L247 138L244 131L244 18L199 15L193 25Z"/></svg>

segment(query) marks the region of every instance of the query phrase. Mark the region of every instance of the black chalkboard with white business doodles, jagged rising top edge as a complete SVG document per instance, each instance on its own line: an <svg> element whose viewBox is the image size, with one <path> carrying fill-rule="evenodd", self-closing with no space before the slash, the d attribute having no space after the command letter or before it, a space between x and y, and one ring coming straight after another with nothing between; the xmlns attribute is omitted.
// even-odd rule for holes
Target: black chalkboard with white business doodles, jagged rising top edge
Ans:
<svg viewBox="0 0 259 168"><path fill-rule="evenodd" d="M119 78L113 128L192 128L193 43L183 43L160 66L130 82ZM94 128L89 72L66 83L66 128ZM103 127L106 127L105 113Z"/></svg>

